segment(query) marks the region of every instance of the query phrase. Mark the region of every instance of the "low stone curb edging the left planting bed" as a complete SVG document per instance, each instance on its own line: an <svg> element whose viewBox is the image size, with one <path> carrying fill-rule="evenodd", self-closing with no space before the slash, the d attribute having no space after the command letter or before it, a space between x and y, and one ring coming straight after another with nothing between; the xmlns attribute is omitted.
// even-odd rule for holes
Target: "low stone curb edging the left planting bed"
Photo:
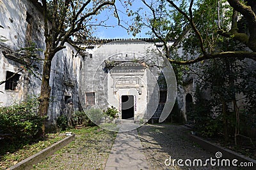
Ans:
<svg viewBox="0 0 256 170"><path fill-rule="evenodd" d="M27 159L22 160L21 162L15 164L15 166L10 167L10 170L15 169L32 169L33 165L38 164L42 160L44 160L46 157L49 157L57 150L60 150L63 148L63 146L68 145L73 139L75 138L75 134L72 134L71 136L68 136L61 141L58 141L57 143L54 143L53 145L45 148L44 150L36 153L35 155L32 155L31 157L28 157Z"/></svg>

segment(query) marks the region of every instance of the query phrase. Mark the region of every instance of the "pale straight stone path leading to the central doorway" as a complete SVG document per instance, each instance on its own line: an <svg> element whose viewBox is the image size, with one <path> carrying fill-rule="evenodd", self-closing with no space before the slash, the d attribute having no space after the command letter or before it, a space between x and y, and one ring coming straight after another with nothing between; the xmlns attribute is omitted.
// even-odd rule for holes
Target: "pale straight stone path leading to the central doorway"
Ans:
<svg viewBox="0 0 256 170"><path fill-rule="evenodd" d="M127 124L131 127L132 124ZM121 129L125 129L122 125ZM149 169L143 146L136 129L128 132L118 132L115 143L106 163L105 170L112 169Z"/></svg>

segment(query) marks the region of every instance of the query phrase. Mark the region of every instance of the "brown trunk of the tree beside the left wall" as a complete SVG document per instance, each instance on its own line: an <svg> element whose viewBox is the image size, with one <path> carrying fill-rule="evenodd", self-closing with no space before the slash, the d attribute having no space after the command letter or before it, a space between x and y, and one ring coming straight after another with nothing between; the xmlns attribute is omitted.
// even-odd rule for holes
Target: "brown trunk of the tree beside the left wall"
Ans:
<svg viewBox="0 0 256 170"><path fill-rule="evenodd" d="M45 135L45 122L46 122L47 111L49 108L49 100L51 97L51 87L49 84L50 74L51 74L51 60L52 60L52 56L49 55L49 49L46 49L44 66L43 66L41 93L39 97L40 104L38 109L38 114L41 117L45 117L42 125L42 136Z"/></svg>

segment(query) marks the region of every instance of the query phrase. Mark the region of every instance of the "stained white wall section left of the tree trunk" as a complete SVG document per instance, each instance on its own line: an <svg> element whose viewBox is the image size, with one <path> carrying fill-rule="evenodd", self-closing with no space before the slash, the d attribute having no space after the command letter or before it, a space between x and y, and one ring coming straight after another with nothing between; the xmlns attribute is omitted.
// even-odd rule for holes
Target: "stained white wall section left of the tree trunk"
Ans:
<svg viewBox="0 0 256 170"><path fill-rule="evenodd" d="M37 48L44 49L44 30L42 29L42 21L38 18L42 18L42 14L35 10L35 6L30 1L0 1L0 39L6 39L8 41L0 41L0 80L6 79L6 71L13 73L20 69L22 64L15 62L4 57L2 51L14 51L17 52L20 48L26 46L26 34L28 22L26 22L26 12L29 11L33 15L33 20L36 20L36 36L31 40L36 43ZM39 26L40 25L40 26ZM38 52L42 56L42 52ZM40 67L40 66L39 66ZM40 67L42 71L42 67ZM0 85L0 106L8 106L14 102L22 101L31 94L39 94L40 92L40 80L32 78L28 71L22 71L20 76L20 90L11 91L4 90L5 83ZM29 85L25 85L29 82ZM39 86L38 86L39 84Z"/></svg>

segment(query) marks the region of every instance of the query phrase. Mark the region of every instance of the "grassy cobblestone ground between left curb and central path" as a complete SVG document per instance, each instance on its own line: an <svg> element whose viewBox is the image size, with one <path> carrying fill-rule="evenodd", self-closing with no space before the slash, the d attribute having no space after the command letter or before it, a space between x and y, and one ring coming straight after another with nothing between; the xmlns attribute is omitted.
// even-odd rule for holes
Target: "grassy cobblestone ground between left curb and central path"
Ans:
<svg viewBox="0 0 256 170"><path fill-rule="evenodd" d="M34 169L104 169L116 132L99 127L74 130L76 140Z"/></svg>

